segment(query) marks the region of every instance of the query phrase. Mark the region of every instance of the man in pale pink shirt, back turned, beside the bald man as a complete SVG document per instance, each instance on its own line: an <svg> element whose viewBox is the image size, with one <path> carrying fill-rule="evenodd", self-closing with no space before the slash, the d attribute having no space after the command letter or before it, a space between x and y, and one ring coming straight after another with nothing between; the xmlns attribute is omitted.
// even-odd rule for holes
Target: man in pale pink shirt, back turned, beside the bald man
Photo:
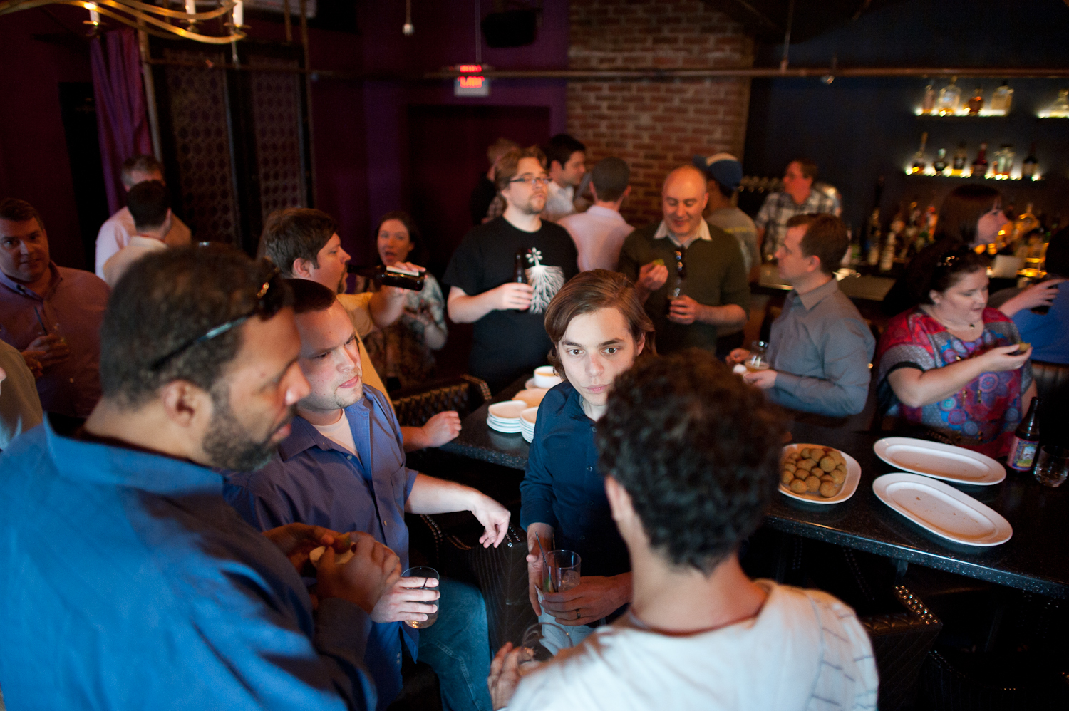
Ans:
<svg viewBox="0 0 1069 711"><path fill-rule="evenodd" d="M579 252L579 272L616 272L620 248L635 228L620 215L623 199L631 195L631 169L620 158L603 158L590 171L594 204L584 213L562 217L557 225L568 230Z"/></svg>

